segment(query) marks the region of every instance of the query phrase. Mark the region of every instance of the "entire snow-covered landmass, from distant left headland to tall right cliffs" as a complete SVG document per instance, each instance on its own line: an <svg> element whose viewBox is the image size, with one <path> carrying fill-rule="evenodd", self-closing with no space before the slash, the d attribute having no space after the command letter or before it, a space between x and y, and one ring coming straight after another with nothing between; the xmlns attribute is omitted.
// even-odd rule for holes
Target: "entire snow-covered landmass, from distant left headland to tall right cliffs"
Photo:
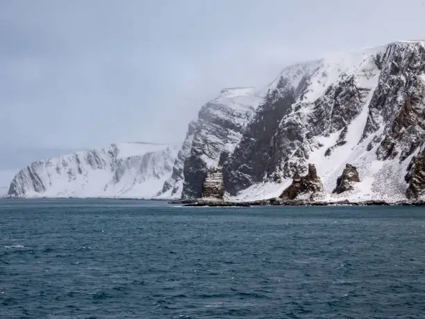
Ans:
<svg viewBox="0 0 425 319"><path fill-rule="evenodd" d="M263 88L223 89L182 145L31 163L9 195L194 199L220 167L228 201L313 198L297 193L308 170L317 201L424 199L424 99L424 41L333 54L285 67Z"/></svg>

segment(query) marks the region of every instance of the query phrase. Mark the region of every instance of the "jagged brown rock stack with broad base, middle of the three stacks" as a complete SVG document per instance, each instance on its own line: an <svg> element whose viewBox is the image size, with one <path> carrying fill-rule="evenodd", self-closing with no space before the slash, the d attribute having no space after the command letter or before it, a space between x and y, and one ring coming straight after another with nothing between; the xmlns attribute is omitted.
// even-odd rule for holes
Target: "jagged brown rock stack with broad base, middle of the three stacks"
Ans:
<svg viewBox="0 0 425 319"><path fill-rule="evenodd" d="M324 193L320 177L317 176L316 167L308 164L308 173L306 176L294 175L292 184L283 190L280 196L283 200L296 199L300 195L309 195L310 200L315 200Z"/></svg>

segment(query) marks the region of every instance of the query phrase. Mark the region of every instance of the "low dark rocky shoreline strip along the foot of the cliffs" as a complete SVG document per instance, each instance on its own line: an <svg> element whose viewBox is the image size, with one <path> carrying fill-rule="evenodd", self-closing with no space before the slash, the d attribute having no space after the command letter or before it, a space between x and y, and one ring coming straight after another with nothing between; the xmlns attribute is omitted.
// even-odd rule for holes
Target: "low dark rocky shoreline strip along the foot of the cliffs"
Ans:
<svg viewBox="0 0 425 319"><path fill-rule="evenodd" d="M384 200L367 200L363 202L350 202L349 200L341 200L336 202L319 202L308 200L280 200L265 199L253 202L226 202L220 200L176 200L169 204L180 204L185 207L251 207L251 206L425 206L425 201L399 201L385 202Z"/></svg>

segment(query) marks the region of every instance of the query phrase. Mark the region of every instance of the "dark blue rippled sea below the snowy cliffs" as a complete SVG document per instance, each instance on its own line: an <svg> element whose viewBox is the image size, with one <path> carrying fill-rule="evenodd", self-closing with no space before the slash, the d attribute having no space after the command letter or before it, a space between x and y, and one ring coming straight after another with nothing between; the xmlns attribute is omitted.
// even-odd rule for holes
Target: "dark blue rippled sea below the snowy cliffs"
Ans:
<svg viewBox="0 0 425 319"><path fill-rule="evenodd" d="M425 208L0 202L1 318L425 318Z"/></svg>

